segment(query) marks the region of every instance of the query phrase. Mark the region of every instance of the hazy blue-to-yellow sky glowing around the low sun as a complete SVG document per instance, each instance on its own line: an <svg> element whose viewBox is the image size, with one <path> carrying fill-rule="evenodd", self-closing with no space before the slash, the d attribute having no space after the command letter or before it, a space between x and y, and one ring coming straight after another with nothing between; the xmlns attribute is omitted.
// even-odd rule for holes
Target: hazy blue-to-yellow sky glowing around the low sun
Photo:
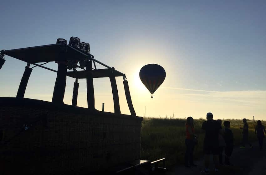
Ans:
<svg viewBox="0 0 266 175"><path fill-rule="evenodd" d="M266 120L266 1L3 1L0 50L69 41L90 43L95 59L126 74L138 116ZM26 63L9 56L0 96L15 97ZM146 64L166 79L150 98L139 79ZM47 66L57 69L56 63ZM97 65L99 68L100 66ZM56 73L33 68L25 98L51 101ZM71 104L74 78L64 103ZM122 77L121 113L130 114ZM95 108L114 112L109 78L94 79ZM79 80L78 106L87 107ZM145 113L146 108L146 113Z"/></svg>

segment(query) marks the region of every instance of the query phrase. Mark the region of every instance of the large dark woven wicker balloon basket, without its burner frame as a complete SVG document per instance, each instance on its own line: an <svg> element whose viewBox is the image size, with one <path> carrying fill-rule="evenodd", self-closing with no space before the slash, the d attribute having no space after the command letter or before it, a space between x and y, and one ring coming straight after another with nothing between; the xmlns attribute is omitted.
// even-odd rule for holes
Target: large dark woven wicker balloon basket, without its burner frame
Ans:
<svg viewBox="0 0 266 175"><path fill-rule="evenodd" d="M41 100L0 98L0 174L88 174L140 159L142 120Z"/></svg>

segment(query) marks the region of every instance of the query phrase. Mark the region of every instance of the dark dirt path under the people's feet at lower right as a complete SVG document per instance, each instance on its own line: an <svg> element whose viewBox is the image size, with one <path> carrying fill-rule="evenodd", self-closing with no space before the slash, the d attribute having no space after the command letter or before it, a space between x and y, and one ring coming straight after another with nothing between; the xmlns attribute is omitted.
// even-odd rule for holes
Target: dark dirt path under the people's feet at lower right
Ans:
<svg viewBox="0 0 266 175"><path fill-rule="evenodd" d="M225 175L266 175L266 141L264 139L263 151L259 150L258 142L253 143L253 148L241 149L235 147L233 150L231 162L235 166L221 166L220 174ZM211 161L212 162L212 161ZM186 168L183 165L171 167L166 172L167 175L198 175L204 169L203 157L195 161L198 167ZM213 165L212 165L213 167ZM211 172L210 174L217 174Z"/></svg>

